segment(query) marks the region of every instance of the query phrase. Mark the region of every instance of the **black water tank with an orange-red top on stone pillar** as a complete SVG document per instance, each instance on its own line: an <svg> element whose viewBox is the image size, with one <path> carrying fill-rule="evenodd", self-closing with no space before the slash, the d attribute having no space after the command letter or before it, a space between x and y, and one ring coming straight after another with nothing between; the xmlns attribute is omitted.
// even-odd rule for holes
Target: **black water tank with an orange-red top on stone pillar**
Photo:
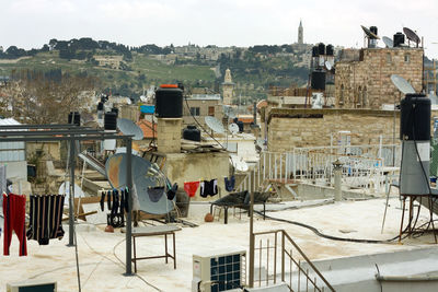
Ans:
<svg viewBox="0 0 438 292"><path fill-rule="evenodd" d="M183 116L183 91L177 85L161 85L155 91L155 114L159 118Z"/></svg>

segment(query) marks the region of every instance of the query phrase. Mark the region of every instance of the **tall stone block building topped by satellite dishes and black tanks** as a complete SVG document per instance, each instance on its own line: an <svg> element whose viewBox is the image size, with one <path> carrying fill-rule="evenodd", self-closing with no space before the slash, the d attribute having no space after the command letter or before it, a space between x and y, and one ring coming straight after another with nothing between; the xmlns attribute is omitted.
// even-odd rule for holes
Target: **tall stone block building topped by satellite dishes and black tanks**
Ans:
<svg viewBox="0 0 438 292"><path fill-rule="evenodd" d="M423 48L364 48L341 52L336 62L335 96L338 108L381 109L403 97L391 74L422 90Z"/></svg>

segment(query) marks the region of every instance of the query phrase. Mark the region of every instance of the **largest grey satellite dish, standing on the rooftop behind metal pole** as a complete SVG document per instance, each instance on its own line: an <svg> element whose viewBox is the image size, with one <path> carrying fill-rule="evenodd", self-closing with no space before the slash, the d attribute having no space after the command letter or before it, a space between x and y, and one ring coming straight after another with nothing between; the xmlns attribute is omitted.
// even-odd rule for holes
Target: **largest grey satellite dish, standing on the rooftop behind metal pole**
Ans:
<svg viewBox="0 0 438 292"><path fill-rule="evenodd" d="M106 161L106 176L113 188L119 189L127 185L126 157L126 153L119 153L114 154ZM157 196L157 194L151 194L150 191L160 186L160 182L157 179L158 175L150 175L151 163L140 156L131 155L131 170L140 211L150 214L165 214L172 211L174 203L168 200L164 192Z"/></svg>

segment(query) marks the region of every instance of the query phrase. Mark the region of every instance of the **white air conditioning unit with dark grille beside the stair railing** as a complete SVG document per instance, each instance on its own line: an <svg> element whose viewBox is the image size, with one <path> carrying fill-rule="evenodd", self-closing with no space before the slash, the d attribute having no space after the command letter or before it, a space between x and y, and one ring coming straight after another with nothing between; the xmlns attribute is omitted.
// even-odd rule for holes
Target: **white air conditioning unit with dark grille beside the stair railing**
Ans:
<svg viewBox="0 0 438 292"><path fill-rule="evenodd" d="M192 292L219 292L245 284L246 250L193 255ZM240 291L240 290L239 290Z"/></svg>

